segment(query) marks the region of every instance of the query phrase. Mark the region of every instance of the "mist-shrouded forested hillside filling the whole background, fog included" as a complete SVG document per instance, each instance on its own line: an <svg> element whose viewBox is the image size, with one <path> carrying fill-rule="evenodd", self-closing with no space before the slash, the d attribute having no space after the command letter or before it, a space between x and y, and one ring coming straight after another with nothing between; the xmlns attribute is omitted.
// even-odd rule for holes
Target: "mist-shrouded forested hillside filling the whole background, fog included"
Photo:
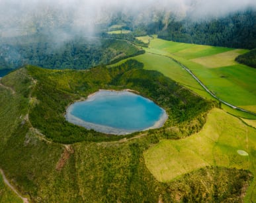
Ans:
<svg viewBox="0 0 256 203"><path fill-rule="evenodd" d="M253 0L3 0L0 69L28 63L85 69L129 55L118 46L107 48L105 40L99 38L136 42L136 36L148 34L176 42L253 49L255 24ZM127 34L108 34L118 29L127 30ZM87 37L87 42L85 38L77 41L81 37ZM75 61L82 56L83 60Z"/></svg>

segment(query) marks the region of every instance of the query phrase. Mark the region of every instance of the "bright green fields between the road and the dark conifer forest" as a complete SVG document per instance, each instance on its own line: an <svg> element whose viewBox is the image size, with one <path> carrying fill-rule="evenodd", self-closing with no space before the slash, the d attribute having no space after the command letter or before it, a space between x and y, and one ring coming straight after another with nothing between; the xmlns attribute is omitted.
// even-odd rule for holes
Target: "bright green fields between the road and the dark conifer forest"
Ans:
<svg viewBox="0 0 256 203"><path fill-rule="evenodd" d="M145 50L175 58L189 67L202 83L220 99L236 106L243 106L247 110L255 110L256 71L235 62L235 57L247 50L184 44L159 39L151 40L149 48L145 48ZM164 73L161 69L159 71ZM200 94L200 92L197 93Z"/></svg>

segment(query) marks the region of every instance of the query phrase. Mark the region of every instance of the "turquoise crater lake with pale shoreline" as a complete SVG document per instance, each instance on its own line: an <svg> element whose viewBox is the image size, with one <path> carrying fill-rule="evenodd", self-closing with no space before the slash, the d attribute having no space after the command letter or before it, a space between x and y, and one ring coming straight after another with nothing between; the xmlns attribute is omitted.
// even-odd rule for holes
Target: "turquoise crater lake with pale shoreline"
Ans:
<svg viewBox="0 0 256 203"><path fill-rule="evenodd" d="M167 116L154 102L128 91L99 91L67 109L67 120L107 134L159 128Z"/></svg>

